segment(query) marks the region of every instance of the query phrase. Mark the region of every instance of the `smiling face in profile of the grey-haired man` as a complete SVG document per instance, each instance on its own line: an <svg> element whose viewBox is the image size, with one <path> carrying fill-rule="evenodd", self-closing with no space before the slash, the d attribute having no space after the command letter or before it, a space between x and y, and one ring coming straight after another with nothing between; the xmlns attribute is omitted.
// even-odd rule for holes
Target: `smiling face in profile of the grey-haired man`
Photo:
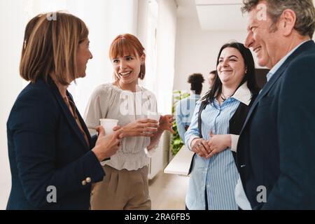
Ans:
<svg viewBox="0 0 315 224"><path fill-rule="evenodd" d="M244 45L255 52L260 66L271 69L284 56L281 49L283 41L278 29L272 31L272 20L269 15L267 20L258 20L259 13L258 8L248 13L248 35Z"/></svg>

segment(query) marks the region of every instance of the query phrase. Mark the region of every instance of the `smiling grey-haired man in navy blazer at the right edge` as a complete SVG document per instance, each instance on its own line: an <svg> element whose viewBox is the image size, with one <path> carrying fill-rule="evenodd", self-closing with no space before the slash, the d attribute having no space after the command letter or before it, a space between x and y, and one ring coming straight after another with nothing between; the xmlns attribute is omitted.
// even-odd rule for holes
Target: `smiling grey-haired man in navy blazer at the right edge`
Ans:
<svg viewBox="0 0 315 224"><path fill-rule="evenodd" d="M271 70L239 137L237 204L315 209L313 1L244 0L242 10L249 18L245 45Z"/></svg>

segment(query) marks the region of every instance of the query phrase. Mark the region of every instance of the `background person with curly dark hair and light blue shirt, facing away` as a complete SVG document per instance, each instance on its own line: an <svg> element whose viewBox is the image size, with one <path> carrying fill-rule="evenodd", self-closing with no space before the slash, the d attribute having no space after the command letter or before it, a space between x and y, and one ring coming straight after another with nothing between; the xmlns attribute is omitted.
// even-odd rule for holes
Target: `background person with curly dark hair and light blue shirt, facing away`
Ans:
<svg viewBox="0 0 315 224"><path fill-rule="evenodd" d="M200 99L200 93L202 92L202 83L204 82L204 76L201 73L193 73L188 77L188 83L190 83L190 96L185 99L181 99L176 104L176 126L179 130L179 136L181 140L185 142L185 132L187 131L197 100Z"/></svg>

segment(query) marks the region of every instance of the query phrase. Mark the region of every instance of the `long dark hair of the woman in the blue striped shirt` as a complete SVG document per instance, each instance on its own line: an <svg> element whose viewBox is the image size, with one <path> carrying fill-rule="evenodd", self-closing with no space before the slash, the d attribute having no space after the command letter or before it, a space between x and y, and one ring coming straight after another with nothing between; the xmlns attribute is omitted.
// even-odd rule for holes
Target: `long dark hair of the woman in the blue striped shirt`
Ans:
<svg viewBox="0 0 315 224"><path fill-rule="evenodd" d="M216 60L217 66L219 63L221 52L225 48L235 48L239 50L239 52L241 53L241 56L244 58L244 63L245 63L247 71L245 73L243 80L241 80L241 83L239 83L239 86L237 88L239 88L241 85L243 85L247 81L247 87L251 91L251 94L252 95L258 94L259 89L258 89L258 85L256 83L256 78L255 78L255 62L253 60L253 55L251 54L251 50L249 50L248 48L245 48L243 43L237 43L237 42L225 43L225 45L221 47L218 53L218 59ZM208 104L208 103L214 104L214 99L221 94L221 91L222 91L222 83L221 83L220 78L218 77L218 72L216 71L216 77L214 78L214 84L212 85L211 90L209 90L209 92L207 92L207 94L205 94L204 97L202 98L202 100L206 99L204 100L203 104Z"/></svg>

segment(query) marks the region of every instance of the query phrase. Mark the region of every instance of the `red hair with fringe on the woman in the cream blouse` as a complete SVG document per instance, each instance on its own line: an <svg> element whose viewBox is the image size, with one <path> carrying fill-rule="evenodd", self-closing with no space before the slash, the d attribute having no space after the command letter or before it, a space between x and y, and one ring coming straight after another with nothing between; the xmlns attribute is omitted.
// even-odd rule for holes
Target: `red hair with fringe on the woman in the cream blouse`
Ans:
<svg viewBox="0 0 315 224"><path fill-rule="evenodd" d="M134 54L141 57L145 55L144 46L140 43L139 39L132 34L120 34L111 43L109 48L109 58L113 59L118 57L118 55L129 55ZM146 63L141 64L139 78L142 80L146 75ZM115 76L115 78L117 78Z"/></svg>

